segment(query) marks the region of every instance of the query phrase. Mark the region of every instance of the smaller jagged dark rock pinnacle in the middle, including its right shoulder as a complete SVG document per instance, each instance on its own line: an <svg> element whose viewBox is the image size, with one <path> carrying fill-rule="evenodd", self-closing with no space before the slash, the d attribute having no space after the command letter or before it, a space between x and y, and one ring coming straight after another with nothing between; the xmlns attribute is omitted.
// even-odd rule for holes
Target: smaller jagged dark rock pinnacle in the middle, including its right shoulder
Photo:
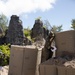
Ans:
<svg viewBox="0 0 75 75"><path fill-rule="evenodd" d="M32 28L31 38L35 40L46 39L48 36L49 30L43 27L43 22L40 19L35 20L35 24Z"/></svg>

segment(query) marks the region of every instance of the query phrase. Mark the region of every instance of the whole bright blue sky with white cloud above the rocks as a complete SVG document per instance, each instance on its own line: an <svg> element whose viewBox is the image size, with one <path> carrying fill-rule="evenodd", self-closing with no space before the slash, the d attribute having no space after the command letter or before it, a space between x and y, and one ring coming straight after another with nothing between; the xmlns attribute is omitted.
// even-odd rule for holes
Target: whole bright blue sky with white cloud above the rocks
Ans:
<svg viewBox="0 0 75 75"><path fill-rule="evenodd" d="M0 0L0 14L10 21L12 15L22 20L23 28L32 28L35 19L41 17L50 25L62 25L63 31L71 30L71 21L75 19L75 0Z"/></svg>

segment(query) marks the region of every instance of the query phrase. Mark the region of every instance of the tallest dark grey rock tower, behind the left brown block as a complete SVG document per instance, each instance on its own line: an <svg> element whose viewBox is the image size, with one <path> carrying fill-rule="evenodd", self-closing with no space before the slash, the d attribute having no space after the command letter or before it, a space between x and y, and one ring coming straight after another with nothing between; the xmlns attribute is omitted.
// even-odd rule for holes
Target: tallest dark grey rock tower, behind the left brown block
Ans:
<svg viewBox="0 0 75 75"><path fill-rule="evenodd" d="M18 16L12 15L6 35L6 42L14 45L23 45L24 34L22 22Z"/></svg>

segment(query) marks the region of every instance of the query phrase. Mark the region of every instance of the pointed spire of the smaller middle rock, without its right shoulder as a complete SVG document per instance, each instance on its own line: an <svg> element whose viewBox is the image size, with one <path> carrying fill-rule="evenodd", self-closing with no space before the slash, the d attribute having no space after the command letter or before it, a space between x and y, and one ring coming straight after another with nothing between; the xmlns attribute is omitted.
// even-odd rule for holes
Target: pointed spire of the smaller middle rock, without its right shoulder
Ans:
<svg viewBox="0 0 75 75"><path fill-rule="evenodd" d="M35 24L32 28L31 38L36 38L36 37L41 37L41 38L44 37L43 23L42 21L40 21L40 19L35 20Z"/></svg>

